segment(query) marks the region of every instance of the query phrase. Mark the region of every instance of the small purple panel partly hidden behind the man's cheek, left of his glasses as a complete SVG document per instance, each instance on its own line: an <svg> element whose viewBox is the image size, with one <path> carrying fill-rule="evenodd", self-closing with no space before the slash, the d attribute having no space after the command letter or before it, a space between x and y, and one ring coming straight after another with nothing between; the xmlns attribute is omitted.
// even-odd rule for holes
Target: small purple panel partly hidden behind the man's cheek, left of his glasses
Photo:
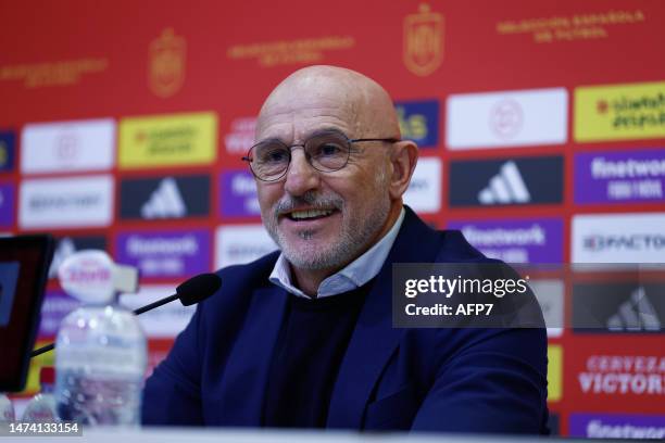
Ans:
<svg viewBox="0 0 665 443"><path fill-rule="evenodd" d="M227 170L219 177L221 215L242 217L261 215L256 183L249 170Z"/></svg>

